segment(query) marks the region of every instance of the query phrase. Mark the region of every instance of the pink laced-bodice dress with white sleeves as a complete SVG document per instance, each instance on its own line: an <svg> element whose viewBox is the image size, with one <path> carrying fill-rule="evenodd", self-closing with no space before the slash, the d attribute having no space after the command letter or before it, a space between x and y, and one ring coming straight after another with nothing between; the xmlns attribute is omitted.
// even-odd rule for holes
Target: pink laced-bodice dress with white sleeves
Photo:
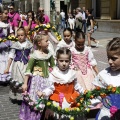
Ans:
<svg viewBox="0 0 120 120"><path fill-rule="evenodd" d="M94 59L92 51L85 46L83 52L77 51L75 48L72 51L72 68L77 70L77 80L79 84L87 90L94 89L92 84L95 73L93 72L92 66L95 66L96 60Z"/></svg>

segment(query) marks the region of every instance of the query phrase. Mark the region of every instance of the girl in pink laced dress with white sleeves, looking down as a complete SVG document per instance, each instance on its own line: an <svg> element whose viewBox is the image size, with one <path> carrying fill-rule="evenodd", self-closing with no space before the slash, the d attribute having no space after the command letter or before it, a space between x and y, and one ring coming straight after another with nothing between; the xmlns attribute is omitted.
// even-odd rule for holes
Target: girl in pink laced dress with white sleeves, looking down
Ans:
<svg viewBox="0 0 120 120"><path fill-rule="evenodd" d="M86 90L94 89L92 84L95 73L98 74L97 63L90 48L85 45L83 32L76 32L75 47L71 48L72 65L77 71L77 80Z"/></svg>

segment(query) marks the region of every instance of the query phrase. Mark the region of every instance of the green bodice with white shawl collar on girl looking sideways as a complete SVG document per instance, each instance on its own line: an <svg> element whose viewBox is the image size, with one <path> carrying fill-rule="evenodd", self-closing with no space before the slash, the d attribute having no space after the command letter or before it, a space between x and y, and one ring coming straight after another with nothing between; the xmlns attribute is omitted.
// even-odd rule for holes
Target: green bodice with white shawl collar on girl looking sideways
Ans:
<svg viewBox="0 0 120 120"><path fill-rule="evenodd" d="M53 67L54 65L54 58L50 52L47 54L47 56L43 57L38 54L37 50L35 50L34 53L30 56L25 74L48 77L49 67Z"/></svg>

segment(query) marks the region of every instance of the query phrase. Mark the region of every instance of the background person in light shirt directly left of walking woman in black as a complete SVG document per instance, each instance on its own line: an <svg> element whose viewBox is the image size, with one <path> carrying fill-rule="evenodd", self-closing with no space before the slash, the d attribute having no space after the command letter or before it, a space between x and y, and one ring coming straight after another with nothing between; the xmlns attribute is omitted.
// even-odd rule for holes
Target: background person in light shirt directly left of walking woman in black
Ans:
<svg viewBox="0 0 120 120"><path fill-rule="evenodd" d="M87 13L85 7L82 8L82 28L84 28L84 33L86 33L86 27L87 27Z"/></svg>

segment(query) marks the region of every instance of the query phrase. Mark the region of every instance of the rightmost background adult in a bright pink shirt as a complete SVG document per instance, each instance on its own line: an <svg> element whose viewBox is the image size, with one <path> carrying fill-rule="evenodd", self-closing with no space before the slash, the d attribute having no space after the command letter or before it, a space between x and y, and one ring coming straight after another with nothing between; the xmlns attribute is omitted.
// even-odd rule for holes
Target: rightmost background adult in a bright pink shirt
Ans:
<svg viewBox="0 0 120 120"><path fill-rule="evenodd" d="M50 22L50 18L48 17L48 15L44 14L44 9L43 8L39 7L38 15L41 19L41 23L47 24L47 23Z"/></svg>

